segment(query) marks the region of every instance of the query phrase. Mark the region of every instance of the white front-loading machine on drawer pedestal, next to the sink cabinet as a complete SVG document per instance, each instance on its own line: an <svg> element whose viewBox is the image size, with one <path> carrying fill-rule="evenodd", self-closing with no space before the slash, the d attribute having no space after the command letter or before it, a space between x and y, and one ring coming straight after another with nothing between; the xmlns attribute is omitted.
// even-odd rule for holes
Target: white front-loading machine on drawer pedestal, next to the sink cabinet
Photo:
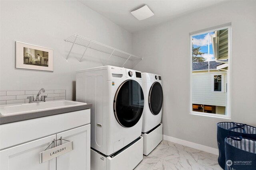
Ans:
<svg viewBox="0 0 256 170"><path fill-rule="evenodd" d="M140 154L143 152L140 135L144 109L141 72L116 66L78 70L76 101L92 104L91 152L97 156L91 159L98 160L91 161L95 163L91 168L97 169L98 161L104 162L107 157L113 160L115 156L116 160L122 160L122 155L125 158L127 154L123 152L117 158L116 153L125 147L128 147L126 152L132 150L130 156L134 154L134 160L130 160L132 166L128 167L134 168L143 159L143 154ZM136 147L132 148L134 143ZM141 156L138 158L137 154Z"/></svg>

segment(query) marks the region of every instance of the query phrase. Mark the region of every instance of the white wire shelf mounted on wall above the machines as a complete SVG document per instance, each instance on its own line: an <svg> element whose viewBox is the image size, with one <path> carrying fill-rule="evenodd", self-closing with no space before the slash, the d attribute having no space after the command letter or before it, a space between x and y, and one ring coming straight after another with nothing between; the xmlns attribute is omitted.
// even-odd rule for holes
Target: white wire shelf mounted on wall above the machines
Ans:
<svg viewBox="0 0 256 170"><path fill-rule="evenodd" d="M116 48L113 48L113 47L110 47L108 45L105 45L105 44L102 44L102 43L99 43L97 41L93 41L91 39L88 39L86 37L82 37L80 35L71 35L70 37L68 37L67 39L64 39L64 41L66 42L70 42L72 43L72 47L68 53L68 56L66 58L66 61L68 61L68 57L70 56L70 52L72 51L72 48L74 46L74 44L76 45L80 45L80 46L83 46L83 47L86 47L82 57L80 58L80 61L82 61L83 57L84 57L84 54L86 52L86 50L89 48L89 49L94 49L94 50L97 50L97 51L100 51L100 52L103 52L103 53L107 53L109 54L110 56L108 57L106 63L108 62L108 60L110 59L111 56L116 56L116 57L120 57L122 59L125 59L126 61L124 62L124 64L130 60L130 61L133 61L133 60L142 60L143 58L141 57L138 57L136 55L132 55L130 53L126 53L124 51L121 51L119 49L116 49ZM106 65L106 63L104 65ZM124 64L122 65L122 67L124 66Z"/></svg>

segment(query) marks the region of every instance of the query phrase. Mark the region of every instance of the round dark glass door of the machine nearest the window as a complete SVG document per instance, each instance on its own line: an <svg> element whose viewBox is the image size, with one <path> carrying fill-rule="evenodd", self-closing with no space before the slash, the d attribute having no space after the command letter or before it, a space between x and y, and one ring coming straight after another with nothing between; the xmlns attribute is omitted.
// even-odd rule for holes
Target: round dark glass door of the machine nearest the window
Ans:
<svg viewBox="0 0 256 170"><path fill-rule="evenodd" d="M163 89L159 82L154 82L149 90L148 105L153 115L158 115L163 105Z"/></svg>

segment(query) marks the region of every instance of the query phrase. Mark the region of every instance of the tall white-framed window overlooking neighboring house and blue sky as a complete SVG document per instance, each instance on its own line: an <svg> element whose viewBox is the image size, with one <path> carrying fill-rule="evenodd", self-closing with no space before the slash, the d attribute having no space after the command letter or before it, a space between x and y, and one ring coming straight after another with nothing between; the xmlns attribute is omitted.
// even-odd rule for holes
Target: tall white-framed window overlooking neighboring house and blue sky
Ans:
<svg viewBox="0 0 256 170"><path fill-rule="evenodd" d="M190 35L190 113L230 118L230 32L220 27Z"/></svg>

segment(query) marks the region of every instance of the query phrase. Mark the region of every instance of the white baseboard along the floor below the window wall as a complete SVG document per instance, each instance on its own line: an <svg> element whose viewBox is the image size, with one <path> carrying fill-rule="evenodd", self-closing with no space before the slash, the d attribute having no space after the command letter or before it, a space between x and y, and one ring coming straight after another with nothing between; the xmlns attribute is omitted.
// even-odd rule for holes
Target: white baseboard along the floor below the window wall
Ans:
<svg viewBox="0 0 256 170"><path fill-rule="evenodd" d="M215 149L215 148L212 148L212 147L207 147L207 146L204 146L204 145L200 145L198 143L193 143L193 142L190 142L190 141L185 141L185 140L182 140L182 139L178 139L178 138L170 137L170 136L166 136L166 135L163 135L163 140L170 141L170 142L173 142L173 143L178 143L178 144L184 145L186 147L190 147L190 148L194 148L194 149L198 149L198 150L202 150L202 151L205 151L205 152L209 152L209 153L212 153L212 154L219 155L219 150L218 149Z"/></svg>

